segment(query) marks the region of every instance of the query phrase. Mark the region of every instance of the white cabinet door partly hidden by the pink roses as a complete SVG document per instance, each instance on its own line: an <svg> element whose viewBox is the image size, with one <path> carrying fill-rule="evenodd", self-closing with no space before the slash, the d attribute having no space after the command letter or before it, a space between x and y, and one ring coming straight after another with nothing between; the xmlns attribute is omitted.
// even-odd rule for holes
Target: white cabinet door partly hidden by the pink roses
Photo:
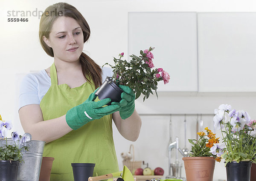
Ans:
<svg viewBox="0 0 256 181"><path fill-rule="evenodd" d="M154 68L163 68L170 81L157 91L198 91L197 15L195 12L131 12L128 14L128 53L155 47ZM130 60L130 59L129 59Z"/></svg>

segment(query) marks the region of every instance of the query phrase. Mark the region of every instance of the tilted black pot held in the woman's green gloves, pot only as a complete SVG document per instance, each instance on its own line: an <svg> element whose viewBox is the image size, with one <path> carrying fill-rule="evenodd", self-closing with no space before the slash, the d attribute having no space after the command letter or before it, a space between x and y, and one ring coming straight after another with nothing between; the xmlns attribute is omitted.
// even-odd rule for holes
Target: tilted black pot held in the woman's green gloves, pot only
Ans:
<svg viewBox="0 0 256 181"><path fill-rule="evenodd" d="M111 98L111 102L119 103L121 101L122 89L120 89L109 77L102 83L95 95L98 96L99 100L105 98ZM111 102L107 105L111 105Z"/></svg>

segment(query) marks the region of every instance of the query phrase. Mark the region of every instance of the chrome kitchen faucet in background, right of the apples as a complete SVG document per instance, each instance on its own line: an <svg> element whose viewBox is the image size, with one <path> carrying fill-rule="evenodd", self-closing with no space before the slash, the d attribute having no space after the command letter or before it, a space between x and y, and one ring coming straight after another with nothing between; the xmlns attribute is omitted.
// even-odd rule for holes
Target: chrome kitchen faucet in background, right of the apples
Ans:
<svg viewBox="0 0 256 181"><path fill-rule="evenodd" d="M172 149L176 149L176 155L175 155L175 162L171 163L171 158L172 158ZM169 175L166 176L166 178L181 178L181 163L178 161L178 152L183 157L186 157L189 155L188 152L183 152L182 149L179 147L179 138L175 137L175 141L170 143L168 146L168 151L169 151L169 161L168 161L168 167L169 167ZM172 175L171 175L171 169L172 169ZM181 178L184 179L184 178Z"/></svg>

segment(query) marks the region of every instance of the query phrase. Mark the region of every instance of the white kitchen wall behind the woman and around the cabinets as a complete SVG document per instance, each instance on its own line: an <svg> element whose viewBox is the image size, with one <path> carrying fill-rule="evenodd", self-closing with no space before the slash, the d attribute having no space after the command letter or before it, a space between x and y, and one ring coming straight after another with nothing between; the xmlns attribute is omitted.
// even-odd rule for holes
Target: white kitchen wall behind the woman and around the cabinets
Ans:
<svg viewBox="0 0 256 181"><path fill-rule="evenodd" d="M38 17L28 17L29 22L7 22L7 11L44 11L59 1L56 0L2 0L0 7L0 114L5 120L17 119L17 74L46 69L53 59L46 55L38 40ZM128 12L131 11L193 11L193 12L251 12L256 11L254 0L67 0L77 7L90 25L91 37L84 51L97 63L111 62L112 56L128 51ZM154 25L152 25L154 26ZM126 54L127 55L127 54ZM171 80L172 81L172 80ZM248 111L256 118L255 93L195 93L159 92L159 99L151 97L143 103L136 101L139 113L166 114L212 114L221 103L230 103L236 109ZM183 116L173 116L173 137L180 137L180 148L184 147ZM196 117L186 118L188 137L195 137ZM204 126L212 126L210 116L203 118ZM169 141L168 116L142 116L143 125L139 139L134 142L135 159L144 160L151 168L167 169L166 146ZM210 126L211 125L211 126ZM122 169L121 152L128 151L131 144L114 128L116 154ZM188 144L187 144L188 145ZM189 147L189 145L187 146ZM223 163L216 163L215 176L225 179ZM184 176L184 171L183 171Z"/></svg>

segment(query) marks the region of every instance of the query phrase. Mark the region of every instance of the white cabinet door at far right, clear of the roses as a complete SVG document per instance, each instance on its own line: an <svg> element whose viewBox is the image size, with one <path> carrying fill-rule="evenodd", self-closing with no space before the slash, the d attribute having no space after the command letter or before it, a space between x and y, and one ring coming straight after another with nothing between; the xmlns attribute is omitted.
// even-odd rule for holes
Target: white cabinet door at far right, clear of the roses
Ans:
<svg viewBox="0 0 256 181"><path fill-rule="evenodd" d="M198 13L199 92L256 91L256 13Z"/></svg>

